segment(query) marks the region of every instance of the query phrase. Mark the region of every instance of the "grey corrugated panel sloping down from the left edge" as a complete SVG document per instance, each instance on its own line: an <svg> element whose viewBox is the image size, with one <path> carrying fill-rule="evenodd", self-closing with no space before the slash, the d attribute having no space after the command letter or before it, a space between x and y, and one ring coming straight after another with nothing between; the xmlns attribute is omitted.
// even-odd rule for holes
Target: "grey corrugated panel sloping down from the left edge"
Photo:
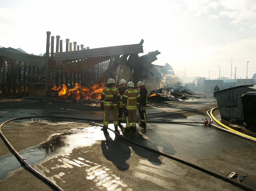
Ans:
<svg viewBox="0 0 256 191"><path fill-rule="evenodd" d="M26 54L7 48L0 48L0 56L5 56L7 58L16 59L17 61L26 62L27 64L31 64L32 66L42 67L43 65L45 65L45 57L43 56Z"/></svg>

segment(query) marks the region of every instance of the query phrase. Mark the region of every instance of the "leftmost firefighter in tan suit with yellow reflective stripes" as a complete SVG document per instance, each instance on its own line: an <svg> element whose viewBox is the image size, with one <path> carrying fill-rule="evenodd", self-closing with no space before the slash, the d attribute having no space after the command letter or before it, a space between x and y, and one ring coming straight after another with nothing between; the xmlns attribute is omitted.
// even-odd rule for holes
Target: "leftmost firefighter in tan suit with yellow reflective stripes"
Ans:
<svg viewBox="0 0 256 191"><path fill-rule="evenodd" d="M118 131L117 125L117 113L118 105L120 104L120 94L117 88L114 87L115 80L110 78L108 80L107 86L101 92L101 109L104 109L104 119L103 119L103 128L101 130L106 131L108 127L108 117L109 113L112 112L113 123L115 131Z"/></svg>

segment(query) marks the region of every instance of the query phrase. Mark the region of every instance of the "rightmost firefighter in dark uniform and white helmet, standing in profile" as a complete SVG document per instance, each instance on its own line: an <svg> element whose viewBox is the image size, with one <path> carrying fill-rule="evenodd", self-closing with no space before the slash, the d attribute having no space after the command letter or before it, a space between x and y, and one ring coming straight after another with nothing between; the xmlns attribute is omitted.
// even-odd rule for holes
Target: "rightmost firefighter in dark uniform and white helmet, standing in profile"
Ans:
<svg viewBox="0 0 256 191"><path fill-rule="evenodd" d="M137 86L139 88L139 94L140 94L139 115L141 120L140 120L139 126L145 127L148 90L146 89L145 84L143 82L138 82Z"/></svg>

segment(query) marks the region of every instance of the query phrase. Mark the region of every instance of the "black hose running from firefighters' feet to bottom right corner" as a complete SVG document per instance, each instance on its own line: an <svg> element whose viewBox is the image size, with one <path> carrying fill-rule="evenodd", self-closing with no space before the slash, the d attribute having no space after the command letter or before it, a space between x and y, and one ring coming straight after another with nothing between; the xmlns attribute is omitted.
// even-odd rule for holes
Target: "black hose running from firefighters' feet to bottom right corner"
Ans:
<svg viewBox="0 0 256 191"><path fill-rule="evenodd" d="M103 125L96 124L96 123L94 123L93 121L90 121L90 124L95 125L95 126L98 126L98 127L103 127ZM160 154L160 155L162 155L162 156L164 156L164 157L167 157L167 158L169 158L169 159L175 160L175 161L177 161L177 162L183 163L183 164L185 164L185 165L187 165L187 166L190 166L190 167L192 167L192 168L194 168L194 169L200 170L201 172L204 172L204 173L206 173L206 174L208 174L208 175L214 176L214 177L219 178L219 179L221 179L221 180L223 180L223 181L226 181L226 182L228 182L228 183L231 183L231 184L233 184L233 185L235 185L235 186L237 186L237 187L239 187L239 188L242 188L242 189L244 189L244 190L256 191L256 190L254 190L254 189L251 188L251 187L245 186L244 184L241 184L241 183L239 183L239 182L236 182L236 181L234 181L234 180L232 180L232 179L230 179L230 178L227 178L227 177L225 177L225 176L223 176L223 175L219 175L219 174L217 174L217 173L215 173L215 172L209 171L209 170L204 169L204 168L202 168L202 167L200 167L200 166L197 166L197 165L194 165L194 164L192 164L192 163L189 163L189 162L187 162L187 161L185 161L185 160L181 160L181 159L179 159L179 158L173 157L173 156L171 156L170 154L166 154L166 153L164 153L164 152L161 152L161 151L152 149L152 148L150 148L150 147L143 146L143 145L141 145L141 144L139 144L139 143L137 143L137 142L135 142L135 141L133 141L133 140L131 140L131 139L127 139L126 137L120 135L119 133L115 132L114 130L112 130L112 129L110 129L110 128L108 128L108 130L111 130L111 131L114 132L116 135L120 136L121 138L125 139L126 141L129 141L129 142L133 143L134 145L137 145L137 146L139 146L139 147L145 148L145 149L147 149L147 150L149 150L149 151L153 151L153 152L155 152L155 153L157 153L157 154Z"/></svg>

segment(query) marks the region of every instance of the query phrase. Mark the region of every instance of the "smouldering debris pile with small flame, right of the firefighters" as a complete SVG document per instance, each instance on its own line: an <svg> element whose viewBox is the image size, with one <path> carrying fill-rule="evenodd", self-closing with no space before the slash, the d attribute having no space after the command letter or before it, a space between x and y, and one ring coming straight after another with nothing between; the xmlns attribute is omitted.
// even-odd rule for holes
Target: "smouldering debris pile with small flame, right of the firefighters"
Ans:
<svg viewBox="0 0 256 191"><path fill-rule="evenodd" d="M158 101L180 101L189 98L203 98L198 97L198 95L200 95L200 93L185 90L176 90L173 87L167 87L151 91L148 99Z"/></svg>

